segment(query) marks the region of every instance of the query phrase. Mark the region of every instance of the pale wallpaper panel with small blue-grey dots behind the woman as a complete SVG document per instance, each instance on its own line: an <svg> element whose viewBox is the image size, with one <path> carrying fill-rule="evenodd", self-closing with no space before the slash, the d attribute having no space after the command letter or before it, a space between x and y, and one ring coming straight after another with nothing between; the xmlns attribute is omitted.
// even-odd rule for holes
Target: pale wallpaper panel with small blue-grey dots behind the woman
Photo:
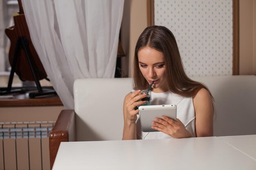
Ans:
<svg viewBox="0 0 256 170"><path fill-rule="evenodd" d="M232 75L232 0L155 0L155 25L177 40L189 76Z"/></svg>

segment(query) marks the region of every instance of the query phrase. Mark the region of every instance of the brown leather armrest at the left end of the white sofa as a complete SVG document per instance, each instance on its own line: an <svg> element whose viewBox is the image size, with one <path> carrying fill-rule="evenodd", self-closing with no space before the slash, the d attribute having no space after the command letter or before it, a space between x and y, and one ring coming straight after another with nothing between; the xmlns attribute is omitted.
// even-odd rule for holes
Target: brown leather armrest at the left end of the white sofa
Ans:
<svg viewBox="0 0 256 170"><path fill-rule="evenodd" d="M50 167L54 164L61 142L75 141L75 112L62 110L49 134Z"/></svg>

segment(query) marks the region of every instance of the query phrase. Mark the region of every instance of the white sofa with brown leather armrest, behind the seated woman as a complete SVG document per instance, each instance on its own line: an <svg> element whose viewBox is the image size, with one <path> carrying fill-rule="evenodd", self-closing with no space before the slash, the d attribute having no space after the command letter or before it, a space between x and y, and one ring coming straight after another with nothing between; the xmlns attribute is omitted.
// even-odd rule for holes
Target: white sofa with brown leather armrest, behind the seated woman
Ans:
<svg viewBox="0 0 256 170"><path fill-rule="evenodd" d="M256 134L256 76L192 78L206 84L215 98L214 136ZM77 79L74 110L63 110L50 132L51 168L61 142L121 140L123 100L131 90L130 78Z"/></svg>

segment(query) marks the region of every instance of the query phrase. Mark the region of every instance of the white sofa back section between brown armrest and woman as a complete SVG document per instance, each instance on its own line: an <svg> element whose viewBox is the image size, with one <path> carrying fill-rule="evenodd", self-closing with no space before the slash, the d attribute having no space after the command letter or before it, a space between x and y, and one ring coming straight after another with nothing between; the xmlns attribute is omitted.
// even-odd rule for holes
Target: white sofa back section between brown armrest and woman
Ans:
<svg viewBox="0 0 256 170"><path fill-rule="evenodd" d="M121 140L124 97L131 78L90 78L74 82L77 141Z"/></svg>

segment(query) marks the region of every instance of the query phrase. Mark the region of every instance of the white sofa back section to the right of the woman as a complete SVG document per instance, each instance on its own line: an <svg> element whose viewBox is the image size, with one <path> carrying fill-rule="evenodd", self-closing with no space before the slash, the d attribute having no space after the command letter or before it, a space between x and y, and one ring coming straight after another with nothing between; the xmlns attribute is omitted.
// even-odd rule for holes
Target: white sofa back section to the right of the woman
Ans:
<svg viewBox="0 0 256 170"><path fill-rule="evenodd" d="M208 86L214 99L214 136L256 134L256 76L192 77Z"/></svg>

